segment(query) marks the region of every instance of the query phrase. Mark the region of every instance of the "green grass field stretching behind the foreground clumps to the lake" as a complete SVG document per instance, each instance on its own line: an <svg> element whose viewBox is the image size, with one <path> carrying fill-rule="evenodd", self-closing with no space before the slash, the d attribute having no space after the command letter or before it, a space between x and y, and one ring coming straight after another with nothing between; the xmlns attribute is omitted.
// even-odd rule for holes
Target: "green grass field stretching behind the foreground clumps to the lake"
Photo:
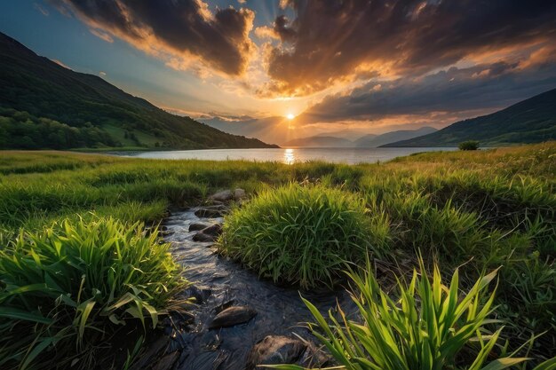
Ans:
<svg viewBox="0 0 556 370"><path fill-rule="evenodd" d="M381 240L380 258L390 262L409 259L417 264L420 251L425 262L438 261L443 274L461 265L463 288L500 267L494 313L504 321L501 337L510 340L509 348L517 348L531 335L544 333L529 354L543 358L556 352L555 143L415 154L353 166L2 152L0 248L5 253L0 259L10 255L22 230L41 232L61 220L87 224L106 217L129 227L138 221L157 223L169 207L199 204L218 189L241 187L250 195L272 197L280 186L286 186L286 193L272 200L279 206L286 201L283 189L288 186L322 186L335 197L344 193L351 209L363 207L370 224L372 215L382 215L384 235L371 236ZM258 202L258 209L251 209L255 216L244 217L250 223L257 222L256 212L266 207ZM322 206L320 201L314 204ZM309 215L303 222L316 224L318 217ZM351 225L365 222L358 216ZM257 269L258 264L248 265ZM314 275L307 281L326 279L318 264L310 271ZM0 279L5 279L2 273ZM275 273L281 272L262 274ZM0 330L5 323L0 315Z"/></svg>

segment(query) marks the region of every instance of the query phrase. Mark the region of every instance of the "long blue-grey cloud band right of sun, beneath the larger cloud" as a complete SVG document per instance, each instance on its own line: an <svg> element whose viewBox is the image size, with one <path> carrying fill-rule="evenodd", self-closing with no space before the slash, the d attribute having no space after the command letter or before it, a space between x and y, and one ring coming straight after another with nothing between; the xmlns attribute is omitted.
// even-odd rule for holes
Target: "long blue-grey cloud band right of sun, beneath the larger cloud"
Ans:
<svg viewBox="0 0 556 370"><path fill-rule="evenodd" d="M496 110L554 88L556 65L525 72L502 63L452 67L417 79L367 83L347 95L329 96L306 111L300 120L374 121L401 114Z"/></svg>

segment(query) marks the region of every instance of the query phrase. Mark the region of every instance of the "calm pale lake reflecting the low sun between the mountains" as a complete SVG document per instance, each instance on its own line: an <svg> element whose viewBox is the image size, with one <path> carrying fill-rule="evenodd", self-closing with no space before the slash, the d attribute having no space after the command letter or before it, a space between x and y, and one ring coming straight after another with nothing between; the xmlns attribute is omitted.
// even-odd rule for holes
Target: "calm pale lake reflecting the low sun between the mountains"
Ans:
<svg viewBox="0 0 556 370"><path fill-rule="evenodd" d="M137 152L122 154L137 158L164 160L247 160L247 161L280 161L286 164L304 161L331 161L355 164L361 162L389 161L395 157L409 154L453 151L455 147L433 148L266 148L266 149L203 149L175 150L161 152Z"/></svg>

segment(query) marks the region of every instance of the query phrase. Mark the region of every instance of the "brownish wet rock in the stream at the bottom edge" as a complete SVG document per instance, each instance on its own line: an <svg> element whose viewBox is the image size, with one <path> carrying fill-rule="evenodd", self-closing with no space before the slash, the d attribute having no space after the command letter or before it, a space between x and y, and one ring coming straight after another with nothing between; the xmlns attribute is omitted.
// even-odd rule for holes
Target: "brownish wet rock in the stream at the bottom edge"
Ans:
<svg viewBox="0 0 556 370"><path fill-rule="evenodd" d="M268 335L253 346L247 358L248 370L258 365L295 364L307 349L306 342L282 335Z"/></svg>

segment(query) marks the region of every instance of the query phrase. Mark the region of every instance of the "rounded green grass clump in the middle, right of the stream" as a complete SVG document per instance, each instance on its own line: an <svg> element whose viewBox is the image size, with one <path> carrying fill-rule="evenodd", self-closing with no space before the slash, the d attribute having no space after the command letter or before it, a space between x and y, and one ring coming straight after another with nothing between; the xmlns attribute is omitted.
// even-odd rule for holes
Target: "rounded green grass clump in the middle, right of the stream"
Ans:
<svg viewBox="0 0 556 370"><path fill-rule="evenodd" d="M260 193L224 223L219 251L274 281L333 286L344 261L380 255L389 240L385 214L366 215L352 193L290 184Z"/></svg>

